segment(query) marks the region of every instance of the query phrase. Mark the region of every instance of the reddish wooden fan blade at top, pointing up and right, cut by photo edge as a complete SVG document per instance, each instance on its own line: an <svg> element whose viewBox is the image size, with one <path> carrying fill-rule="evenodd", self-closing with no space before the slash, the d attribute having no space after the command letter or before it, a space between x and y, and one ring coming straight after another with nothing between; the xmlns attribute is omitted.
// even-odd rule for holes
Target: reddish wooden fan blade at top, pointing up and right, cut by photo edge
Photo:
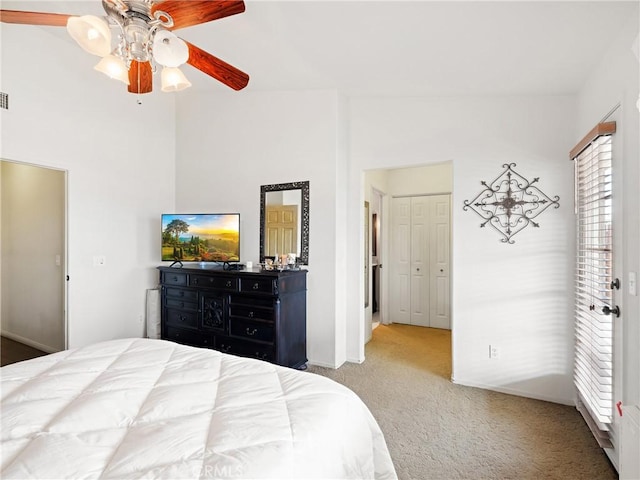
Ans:
<svg viewBox="0 0 640 480"><path fill-rule="evenodd" d="M244 12L242 0L165 0L151 7L151 13L165 12L173 18L169 30L190 27Z"/></svg>

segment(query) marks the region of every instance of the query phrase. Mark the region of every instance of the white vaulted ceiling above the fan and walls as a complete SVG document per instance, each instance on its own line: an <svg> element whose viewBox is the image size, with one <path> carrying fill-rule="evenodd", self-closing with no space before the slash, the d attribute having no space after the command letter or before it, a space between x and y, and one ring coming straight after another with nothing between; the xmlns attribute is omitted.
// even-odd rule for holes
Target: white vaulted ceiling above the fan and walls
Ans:
<svg viewBox="0 0 640 480"><path fill-rule="evenodd" d="M0 3L103 14L99 0ZM245 3L242 14L177 33L247 72L248 90L410 96L576 93L639 2ZM183 71L194 89L227 89L189 66Z"/></svg>

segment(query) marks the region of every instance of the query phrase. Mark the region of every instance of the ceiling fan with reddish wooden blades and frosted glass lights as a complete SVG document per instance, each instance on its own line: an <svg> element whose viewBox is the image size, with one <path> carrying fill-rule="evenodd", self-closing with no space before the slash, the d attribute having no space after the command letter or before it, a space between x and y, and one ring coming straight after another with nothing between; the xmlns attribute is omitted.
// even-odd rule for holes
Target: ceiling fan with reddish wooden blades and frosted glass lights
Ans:
<svg viewBox="0 0 640 480"><path fill-rule="evenodd" d="M178 68L184 63L234 90L249 75L177 37L173 31L242 13L243 0L102 0L105 17L0 10L0 21L67 27L87 52L102 57L95 69L126 83L131 93L149 93L153 72L162 66L162 91L191 86ZM111 28L117 30L112 47Z"/></svg>

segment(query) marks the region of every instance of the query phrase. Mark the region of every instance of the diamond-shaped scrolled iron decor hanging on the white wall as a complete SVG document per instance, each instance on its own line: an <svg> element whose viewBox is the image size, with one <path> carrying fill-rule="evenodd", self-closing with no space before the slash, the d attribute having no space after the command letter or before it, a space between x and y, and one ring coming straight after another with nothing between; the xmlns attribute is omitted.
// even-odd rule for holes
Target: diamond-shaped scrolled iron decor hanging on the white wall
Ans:
<svg viewBox="0 0 640 480"><path fill-rule="evenodd" d="M503 243L515 243L513 236L524 230L527 226L539 227L540 224L533 221L538 215L550 206L560 207L560 197L550 198L535 183L539 177L532 181L513 170L515 163L505 163L505 169L491 183L481 181L482 190L473 200L465 200L463 210L471 209L484 221L480 227L491 225L501 235Z"/></svg>

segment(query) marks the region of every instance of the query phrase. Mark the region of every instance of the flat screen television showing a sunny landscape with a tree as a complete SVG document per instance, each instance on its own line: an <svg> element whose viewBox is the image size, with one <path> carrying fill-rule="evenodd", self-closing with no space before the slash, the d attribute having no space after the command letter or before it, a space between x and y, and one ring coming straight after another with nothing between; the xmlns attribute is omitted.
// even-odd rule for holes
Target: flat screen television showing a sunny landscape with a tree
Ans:
<svg viewBox="0 0 640 480"><path fill-rule="evenodd" d="M240 214L162 214L162 260L239 262Z"/></svg>

